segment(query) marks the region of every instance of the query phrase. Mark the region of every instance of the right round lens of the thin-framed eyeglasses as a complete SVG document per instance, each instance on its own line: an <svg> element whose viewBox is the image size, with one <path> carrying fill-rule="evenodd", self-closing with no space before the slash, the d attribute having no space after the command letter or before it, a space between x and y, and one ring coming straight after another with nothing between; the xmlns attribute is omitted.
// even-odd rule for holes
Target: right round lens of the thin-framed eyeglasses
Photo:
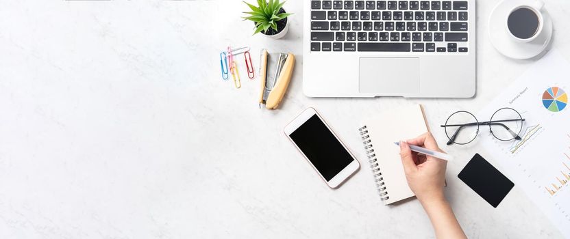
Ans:
<svg viewBox="0 0 570 239"><path fill-rule="evenodd" d="M489 123L491 133L501 141L515 139L523 128L523 119L519 112L510 108L499 109Z"/></svg>

